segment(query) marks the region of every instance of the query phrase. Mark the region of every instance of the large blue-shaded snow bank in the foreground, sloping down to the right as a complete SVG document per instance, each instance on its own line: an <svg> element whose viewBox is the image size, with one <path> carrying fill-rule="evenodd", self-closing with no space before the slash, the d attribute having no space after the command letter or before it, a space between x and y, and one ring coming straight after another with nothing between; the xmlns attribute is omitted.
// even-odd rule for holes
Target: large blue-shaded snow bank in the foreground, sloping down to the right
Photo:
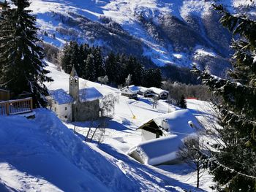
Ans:
<svg viewBox="0 0 256 192"><path fill-rule="evenodd" d="M0 118L1 191L182 191L171 177L129 164L76 137L53 112Z"/></svg>

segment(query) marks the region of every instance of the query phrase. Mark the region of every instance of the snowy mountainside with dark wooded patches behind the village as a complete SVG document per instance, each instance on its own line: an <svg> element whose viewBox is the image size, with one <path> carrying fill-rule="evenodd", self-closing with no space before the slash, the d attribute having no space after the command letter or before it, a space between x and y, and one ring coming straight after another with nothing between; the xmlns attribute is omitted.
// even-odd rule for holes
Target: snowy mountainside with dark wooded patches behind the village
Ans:
<svg viewBox="0 0 256 192"><path fill-rule="evenodd" d="M231 37L214 3L255 16L255 4L241 0L34 0L30 9L40 36L53 45L73 39L105 52L145 55L159 66L195 63L222 76L230 66Z"/></svg>

